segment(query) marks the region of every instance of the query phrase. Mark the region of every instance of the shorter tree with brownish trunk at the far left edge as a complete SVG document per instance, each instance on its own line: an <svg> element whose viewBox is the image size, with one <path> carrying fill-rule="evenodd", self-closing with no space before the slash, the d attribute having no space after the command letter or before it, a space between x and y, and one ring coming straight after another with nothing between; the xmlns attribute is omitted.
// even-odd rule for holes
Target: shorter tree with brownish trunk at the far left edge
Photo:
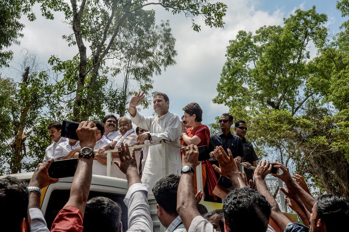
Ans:
<svg viewBox="0 0 349 232"><path fill-rule="evenodd" d="M44 108L47 106L47 99L50 92L48 75L46 72L37 72L37 58L32 52L27 52L23 58L22 80L16 84L13 79L1 78L1 99L2 114L0 146L2 151L2 167L7 167L11 173L23 170L27 158L27 139L31 139L32 127L37 124L39 115L44 115ZM47 134L47 133L46 133ZM37 139L43 138L43 134ZM35 154L32 158L42 160L45 154L43 151ZM37 162L36 162L37 166ZM34 167L36 167L34 166ZM28 164L25 170L31 170L32 165ZM7 169L3 168L2 171Z"/></svg>

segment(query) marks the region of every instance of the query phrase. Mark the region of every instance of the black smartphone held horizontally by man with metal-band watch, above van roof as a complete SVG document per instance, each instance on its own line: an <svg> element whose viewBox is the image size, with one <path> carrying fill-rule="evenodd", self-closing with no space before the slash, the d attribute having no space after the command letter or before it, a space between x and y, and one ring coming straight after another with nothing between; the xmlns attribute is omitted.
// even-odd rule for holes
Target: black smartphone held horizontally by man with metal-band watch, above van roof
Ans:
<svg viewBox="0 0 349 232"><path fill-rule="evenodd" d="M48 176L51 178L74 176L78 163L79 158L55 160L48 167Z"/></svg>

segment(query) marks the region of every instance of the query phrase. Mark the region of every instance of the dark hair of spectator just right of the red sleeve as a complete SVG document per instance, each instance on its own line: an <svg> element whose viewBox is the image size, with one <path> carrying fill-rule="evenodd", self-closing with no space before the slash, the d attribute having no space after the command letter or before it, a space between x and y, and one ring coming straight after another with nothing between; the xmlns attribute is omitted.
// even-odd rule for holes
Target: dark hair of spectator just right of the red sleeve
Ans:
<svg viewBox="0 0 349 232"><path fill-rule="evenodd" d="M119 232L120 205L106 197L94 197L87 201L83 218L83 232Z"/></svg>

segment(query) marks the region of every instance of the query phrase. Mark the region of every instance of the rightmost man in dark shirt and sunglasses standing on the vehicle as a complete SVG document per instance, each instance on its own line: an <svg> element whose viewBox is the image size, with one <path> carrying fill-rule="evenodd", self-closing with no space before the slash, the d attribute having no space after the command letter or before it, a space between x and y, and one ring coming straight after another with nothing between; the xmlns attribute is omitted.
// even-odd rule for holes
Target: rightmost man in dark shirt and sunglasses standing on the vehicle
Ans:
<svg viewBox="0 0 349 232"><path fill-rule="evenodd" d="M245 157L243 159L243 163L247 165L244 167L244 171L246 173L247 181L253 180L254 170L250 169L251 166L257 166L258 157L254 152L253 145L250 141L248 141L245 136L247 132L246 122L243 120L239 120L235 123L235 134L240 137L242 141L242 146L244 149Z"/></svg>

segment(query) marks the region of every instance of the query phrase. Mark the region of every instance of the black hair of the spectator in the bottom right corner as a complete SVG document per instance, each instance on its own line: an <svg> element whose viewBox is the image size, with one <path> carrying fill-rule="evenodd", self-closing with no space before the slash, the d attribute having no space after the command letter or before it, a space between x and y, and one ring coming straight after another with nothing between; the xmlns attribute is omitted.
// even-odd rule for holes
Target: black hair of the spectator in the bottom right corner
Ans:
<svg viewBox="0 0 349 232"><path fill-rule="evenodd" d="M344 197L324 194L317 198L317 218L325 223L328 232L345 228L349 220L349 201Z"/></svg>

